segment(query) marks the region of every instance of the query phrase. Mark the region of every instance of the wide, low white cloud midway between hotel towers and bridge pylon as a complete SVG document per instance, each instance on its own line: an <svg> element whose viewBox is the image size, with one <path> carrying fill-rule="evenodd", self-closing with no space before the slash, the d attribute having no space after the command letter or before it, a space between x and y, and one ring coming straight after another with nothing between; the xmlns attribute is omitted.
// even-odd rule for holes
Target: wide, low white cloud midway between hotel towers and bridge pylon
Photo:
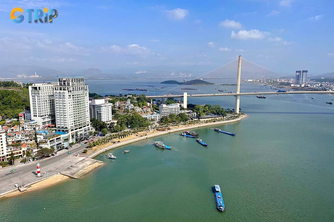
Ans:
<svg viewBox="0 0 334 222"><path fill-rule="evenodd" d="M101 47L102 50L111 52L111 53L119 53L119 54L129 54L129 55L153 55L155 53L151 53L151 51L145 46L139 46L137 44L131 44L126 47L121 47L117 45L112 45L109 47Z"/></svg>

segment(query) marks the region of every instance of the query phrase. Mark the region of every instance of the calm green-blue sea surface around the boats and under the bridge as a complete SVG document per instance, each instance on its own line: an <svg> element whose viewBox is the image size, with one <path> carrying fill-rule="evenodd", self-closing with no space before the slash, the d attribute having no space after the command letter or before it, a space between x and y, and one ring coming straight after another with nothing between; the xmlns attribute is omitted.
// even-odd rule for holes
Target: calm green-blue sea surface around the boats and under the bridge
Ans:
<svg viewBox="0 0 334 222"><path fill-rule="evenodd" d="M163 86L161 80L86 82L101 95L119 94L120 84L153 90L147 95L161 93L148 85ZM241 92L270 90L242 84ZM215 87L195 86L193 94ZM219 89L225 88L235 91ZM110 151L116 160L97 157L107 164L83 179L0 199L0 221L333 221L334 106L325 104L332 99L243 96L240 108L248 118L218 125L236 136L201 127L194 130L208 147L171 133L116 148ZM234 106L234 97L188 100ZM173 149L154 147L156 140ZM214 184L222 188L223 213L216 210Z"/></svg>

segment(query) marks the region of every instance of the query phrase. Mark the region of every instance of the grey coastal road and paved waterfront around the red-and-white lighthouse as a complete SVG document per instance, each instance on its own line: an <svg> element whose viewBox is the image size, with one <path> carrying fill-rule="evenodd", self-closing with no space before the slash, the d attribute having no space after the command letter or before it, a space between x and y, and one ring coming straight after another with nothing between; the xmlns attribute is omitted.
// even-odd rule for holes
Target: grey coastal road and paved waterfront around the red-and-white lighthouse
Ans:
<svg viewBox="0 0 334 222"><path fill-rule="evenodd" d="M95 137L94 140L102 137ZM86 141L86 140L85 140ZM83 142L85 142L83 141ZM58 173L76 162L85 159L86 157L76 156L80 154L83 149L88 147L88 143L80 145L80 143L75 144L70 149L63 149L57 152L55 156L50 156L41 160L34 160L28 162L27 164L17 162L14 166L7 166L0 169L0 195L3 192L15 188L15 184L18 185L28 184L39 180L36 177L36 163L41 164L41 174L42 177L47 177L54 173ZM71 154L67 154L68 151ZM10 172L11 169L15 169L14 172Z"/></svg>

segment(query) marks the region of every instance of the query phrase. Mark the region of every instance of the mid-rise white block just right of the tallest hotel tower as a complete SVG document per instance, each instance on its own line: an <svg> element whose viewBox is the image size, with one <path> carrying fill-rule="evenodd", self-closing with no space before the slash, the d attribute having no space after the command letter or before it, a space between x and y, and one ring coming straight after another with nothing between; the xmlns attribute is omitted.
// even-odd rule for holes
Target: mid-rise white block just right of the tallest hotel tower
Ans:
<svg viewBox="0 0 334 222"><path fill-rule="evenodd" d="M98 119L102 122L111 122L111 110L113 104L106 103L105 99L92 100L89 104L91 118Z"/></svg>

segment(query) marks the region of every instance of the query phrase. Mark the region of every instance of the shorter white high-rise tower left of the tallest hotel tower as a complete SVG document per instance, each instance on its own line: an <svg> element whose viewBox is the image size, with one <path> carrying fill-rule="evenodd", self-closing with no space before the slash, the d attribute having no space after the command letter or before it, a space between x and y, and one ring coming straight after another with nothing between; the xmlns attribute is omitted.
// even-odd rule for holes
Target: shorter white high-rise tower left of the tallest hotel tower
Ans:
<svg viewBox="0 0 334 222"><path fill-rule="evenodd" d="M31 119L43 126L55 122L53 87L57 83L38 83L29 86Z"/></svg>

